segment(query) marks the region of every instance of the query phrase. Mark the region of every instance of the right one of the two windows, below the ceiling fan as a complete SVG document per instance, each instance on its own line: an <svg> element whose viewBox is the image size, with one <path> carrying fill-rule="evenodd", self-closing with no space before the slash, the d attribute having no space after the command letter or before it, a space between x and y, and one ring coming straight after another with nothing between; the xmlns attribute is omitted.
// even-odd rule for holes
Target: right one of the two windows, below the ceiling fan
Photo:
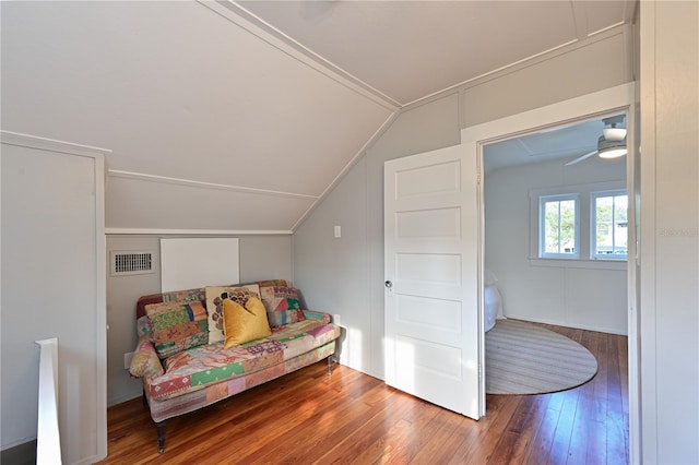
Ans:
<svg viewBox="0 0 699 465"><path fill-rule="evenodd" d="M628 248L628 196L625 190L590 195L592 259L626 260Z"/></svg>

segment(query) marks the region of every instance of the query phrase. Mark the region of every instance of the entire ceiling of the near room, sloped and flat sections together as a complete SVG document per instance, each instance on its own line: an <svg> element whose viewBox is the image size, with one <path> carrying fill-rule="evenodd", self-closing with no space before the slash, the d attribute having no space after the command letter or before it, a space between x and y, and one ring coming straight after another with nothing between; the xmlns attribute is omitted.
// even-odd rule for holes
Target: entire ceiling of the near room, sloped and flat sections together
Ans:
<svg viewBox="0 0 699 465"><path fill-rule="evenodd" d="M405 105L632 4L1 2L1 124L111 150L112 233L286 233Z"/></svg>

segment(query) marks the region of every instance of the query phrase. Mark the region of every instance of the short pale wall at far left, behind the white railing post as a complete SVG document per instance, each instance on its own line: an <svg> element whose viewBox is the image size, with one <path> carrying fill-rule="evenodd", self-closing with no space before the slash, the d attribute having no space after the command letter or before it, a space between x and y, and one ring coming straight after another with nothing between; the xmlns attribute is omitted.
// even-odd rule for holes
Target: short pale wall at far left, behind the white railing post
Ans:
<svg viewBox="0 0 699 465"><path fill-rule="evenodd" d="M0 449L36 439L35 341L57 337L62 461L94 463L107 453L104 152L2 142Z"/></svg>

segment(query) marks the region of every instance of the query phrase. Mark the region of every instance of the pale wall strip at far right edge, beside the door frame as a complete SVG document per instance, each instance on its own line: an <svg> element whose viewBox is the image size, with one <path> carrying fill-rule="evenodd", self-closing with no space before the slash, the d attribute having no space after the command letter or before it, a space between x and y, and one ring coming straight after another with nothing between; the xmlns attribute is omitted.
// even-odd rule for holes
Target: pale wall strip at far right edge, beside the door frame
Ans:
<svg viewBox="0 0 699 465"><path fill-rule="evenodd" d="M699 463L699 3L641 2L641 400L649 464Z"/></svg>

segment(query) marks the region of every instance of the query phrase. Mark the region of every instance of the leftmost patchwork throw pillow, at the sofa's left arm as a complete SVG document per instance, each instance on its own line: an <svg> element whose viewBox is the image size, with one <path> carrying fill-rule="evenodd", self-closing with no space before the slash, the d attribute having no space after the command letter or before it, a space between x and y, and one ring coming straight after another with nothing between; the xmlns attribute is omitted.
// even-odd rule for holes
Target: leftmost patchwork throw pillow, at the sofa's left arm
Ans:
<svg viewBox="0 0 699 465"><path fill-rule="evenodd" d="M167 358L206 344L206 309L200 301L163 302L145 306L153 343L158 357Z"/></svg>

